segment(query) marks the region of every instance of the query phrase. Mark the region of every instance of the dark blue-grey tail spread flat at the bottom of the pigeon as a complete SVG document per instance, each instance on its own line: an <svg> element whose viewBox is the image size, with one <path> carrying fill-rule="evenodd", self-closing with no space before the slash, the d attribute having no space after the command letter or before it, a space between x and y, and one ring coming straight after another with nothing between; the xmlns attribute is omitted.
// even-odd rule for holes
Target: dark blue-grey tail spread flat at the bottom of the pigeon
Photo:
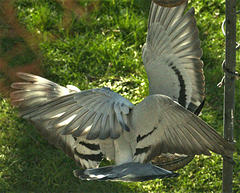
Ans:
<svg viewBox="0 0 240 193"><path fill-rule="evenodd" d="M178 173L173 173L158 166L154 166L151 163L140 164L136 162L96 169L75 170L74 175L82 180L123 182L142 182L179 176Z"/></svg>

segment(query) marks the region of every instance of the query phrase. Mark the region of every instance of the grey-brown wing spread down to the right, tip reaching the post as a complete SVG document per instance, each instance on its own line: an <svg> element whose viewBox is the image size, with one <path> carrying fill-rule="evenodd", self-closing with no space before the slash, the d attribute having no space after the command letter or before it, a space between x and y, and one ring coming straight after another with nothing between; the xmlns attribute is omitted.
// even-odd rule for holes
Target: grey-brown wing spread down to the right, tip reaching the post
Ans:
<svg viewBox="0 0 240 193"><path fill-rule="evenodd" d="M144 118L143 118L144 117ZM199 117L165 95L151 95L132 112L136 132L134 160L150 161L162 153L229 156L234 148Z"/></svg>

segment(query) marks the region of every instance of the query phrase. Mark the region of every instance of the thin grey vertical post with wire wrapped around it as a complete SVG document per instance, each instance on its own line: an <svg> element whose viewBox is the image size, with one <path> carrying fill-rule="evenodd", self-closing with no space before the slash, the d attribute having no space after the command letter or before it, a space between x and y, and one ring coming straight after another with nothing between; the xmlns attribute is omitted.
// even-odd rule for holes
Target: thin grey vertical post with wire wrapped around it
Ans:
<svg viewBox="0 0 240 193"><path fill-rule="evenodd" d="M226 69L235 72L236 67L236 0L226 0ZM224 138L233 142L235 77L225 73L224 87ZM233 156L233 155L231 155ZM233 165L223 159L222 191L232 192Z"/></svg>

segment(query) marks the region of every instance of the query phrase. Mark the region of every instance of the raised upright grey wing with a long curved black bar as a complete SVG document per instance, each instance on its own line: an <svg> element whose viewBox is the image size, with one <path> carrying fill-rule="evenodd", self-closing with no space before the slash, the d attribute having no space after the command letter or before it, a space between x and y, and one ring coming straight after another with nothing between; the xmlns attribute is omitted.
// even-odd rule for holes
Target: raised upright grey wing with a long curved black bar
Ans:
<svg viewBox="0 0 240 193"><path fill-rule="evenodd" d="M205 82L194 8L183 15L186 6L152 3L142 58L150 95L167 95L195 112L204 100Z"/></svg>

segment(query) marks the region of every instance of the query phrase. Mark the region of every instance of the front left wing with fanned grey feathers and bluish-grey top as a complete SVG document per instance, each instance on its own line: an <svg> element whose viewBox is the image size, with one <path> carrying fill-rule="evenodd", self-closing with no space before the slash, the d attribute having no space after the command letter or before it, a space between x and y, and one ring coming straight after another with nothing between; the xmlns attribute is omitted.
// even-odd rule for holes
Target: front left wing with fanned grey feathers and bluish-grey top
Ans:
<svg viewBox="0 0 240 193"><path fill-rule="evenodd" d="M33 122L51 120L47 129L61 128L63 135L79 137L87 134L88 140L108 137L117 139L121 127L129 131L123 117L129 113L130 108L133 105L128 100L108 88L102 88L54 98L22 110L20 115ZM121 127L115 124L120 124Z"/></svg>

